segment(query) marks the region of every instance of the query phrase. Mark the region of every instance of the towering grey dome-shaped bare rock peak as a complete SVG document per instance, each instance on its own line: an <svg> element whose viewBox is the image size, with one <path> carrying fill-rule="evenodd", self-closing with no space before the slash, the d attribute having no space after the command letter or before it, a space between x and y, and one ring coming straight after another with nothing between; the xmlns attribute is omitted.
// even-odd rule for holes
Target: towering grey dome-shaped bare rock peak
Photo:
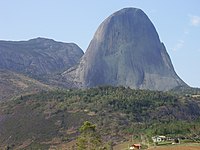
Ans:
<svg viewBox="0 0 200 150"><path fill-rule="evenodd" d="M146 14L122 9L97 29L77 67L63 73L78 87L101 85L169 90L186 86Z"/></svg>

